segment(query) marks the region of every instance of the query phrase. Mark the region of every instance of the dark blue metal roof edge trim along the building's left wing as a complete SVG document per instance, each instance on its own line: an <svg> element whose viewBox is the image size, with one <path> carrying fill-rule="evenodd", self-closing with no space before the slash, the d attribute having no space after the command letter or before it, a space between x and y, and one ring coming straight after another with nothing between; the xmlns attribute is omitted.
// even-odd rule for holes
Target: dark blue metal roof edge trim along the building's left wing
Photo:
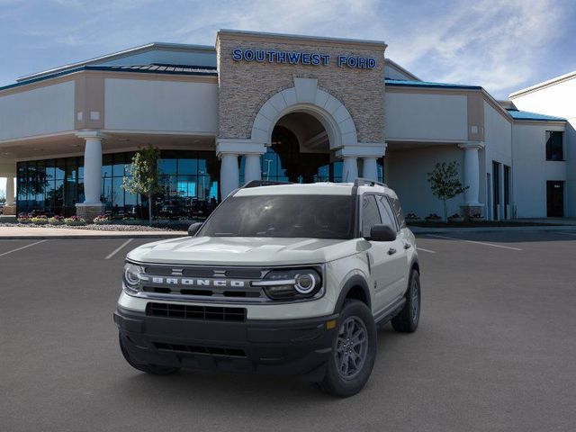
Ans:
<svg viewBox="0 0 576 432"><path fill-rule="evenodd" d="M200 75L200 76L218 76L218 72L210 67L202 68L192 68L192 67L160 67L157 65L145 65L145 66L81 66L74 67L72 69L67 69L62 72L57 72L51 75L39 76L38 78L32 78L27 81L22 81L20 83L14 83L9 85L4 85L0 87L0 91L7 90L9 88L20 87L22 85L29 85L32 83L38 83L40 81L45 81L50 78L57 78L58 76L66 76L74 74L76 72L81 72L83 70L103 70L103 71L114 71L114 72L137 72L144 74L167 74L167 75Z"/></svg>

